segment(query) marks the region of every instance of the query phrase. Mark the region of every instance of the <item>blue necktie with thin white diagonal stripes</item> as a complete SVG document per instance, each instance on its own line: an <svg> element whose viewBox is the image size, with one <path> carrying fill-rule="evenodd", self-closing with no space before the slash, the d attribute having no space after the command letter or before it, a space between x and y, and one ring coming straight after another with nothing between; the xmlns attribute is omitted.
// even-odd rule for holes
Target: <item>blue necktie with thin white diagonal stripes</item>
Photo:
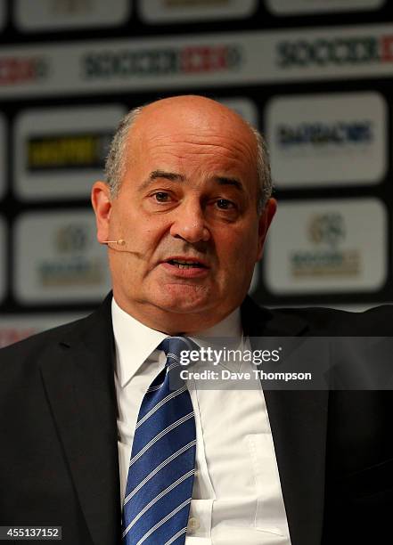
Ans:
<svg viewBox="0 0 393 545"><path fill-rule="evenodd" d="M169 337L158 349L167 362L143 397L135 427L123 506L125 545L185 541L196 435L190 393L179 384L178 368L181 351L193 346L188 338ZM174 378L176 389L170 387Z"/></svg>

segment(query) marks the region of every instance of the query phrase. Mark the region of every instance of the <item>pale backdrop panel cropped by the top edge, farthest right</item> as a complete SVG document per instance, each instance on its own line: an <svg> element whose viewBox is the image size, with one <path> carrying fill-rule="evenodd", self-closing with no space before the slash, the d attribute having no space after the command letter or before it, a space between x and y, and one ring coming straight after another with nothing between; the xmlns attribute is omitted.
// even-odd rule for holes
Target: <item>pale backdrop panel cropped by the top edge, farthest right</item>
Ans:
<svg viewBox="0 0 393 545"><path fill-rule="evenodd" d="M375 10L384 3L385 0L266 0L267 8L276 15Z"/></svg>

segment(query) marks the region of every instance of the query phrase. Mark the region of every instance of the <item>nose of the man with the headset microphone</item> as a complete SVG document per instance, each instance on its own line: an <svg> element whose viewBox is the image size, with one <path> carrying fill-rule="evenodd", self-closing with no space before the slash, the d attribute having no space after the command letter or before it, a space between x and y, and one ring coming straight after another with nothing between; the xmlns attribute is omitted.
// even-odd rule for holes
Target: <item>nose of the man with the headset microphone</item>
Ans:
<svg viewBox="0 0 393 545"><path fill-rule="evenodd" d="M180 206L176 207L170 234L176 239L183 239L190 243L209 240L210 232L199 199L184 200Z"/></svg>

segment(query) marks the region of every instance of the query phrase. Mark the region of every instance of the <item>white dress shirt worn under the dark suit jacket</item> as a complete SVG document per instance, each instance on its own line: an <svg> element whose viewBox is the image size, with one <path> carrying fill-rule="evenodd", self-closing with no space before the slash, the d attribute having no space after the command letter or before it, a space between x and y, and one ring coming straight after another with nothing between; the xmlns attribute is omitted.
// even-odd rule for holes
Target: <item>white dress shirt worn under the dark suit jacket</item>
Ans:
<svg viewBox="0 0 393 545"><path fill-rule="evenodd" d="M136 419L143 395L165 366L165 354L156 348L168 335L136 321L114 299L112 320L123 503ZM242 350L249 346L242 338L239 309L192 340L208 346L206 338L236 339ZM224 365L238 371L252 368L250 362ZM203 366L198 362L193 369ZM260 382L256 380L254 389L242 389L232 381L219 381L219 389L213 390L198 388L190 378L187 386L195 412L197 449L186 545L291 545Z"/></svg>

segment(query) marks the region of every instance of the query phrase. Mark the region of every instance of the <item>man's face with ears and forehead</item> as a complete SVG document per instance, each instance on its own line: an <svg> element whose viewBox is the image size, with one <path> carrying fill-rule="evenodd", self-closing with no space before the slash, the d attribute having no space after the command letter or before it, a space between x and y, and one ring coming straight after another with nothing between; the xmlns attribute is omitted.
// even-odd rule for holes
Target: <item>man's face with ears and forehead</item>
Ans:
<svg viewBox="0 0 393 545"><path fill-rule="evenodd" d="M114 297L153 329L221 321L242 303L261 256L271 217L257 212L255 140L221 109L143 112L119 196L95 184L99 240L126 240L109 250Z"/></svg>

